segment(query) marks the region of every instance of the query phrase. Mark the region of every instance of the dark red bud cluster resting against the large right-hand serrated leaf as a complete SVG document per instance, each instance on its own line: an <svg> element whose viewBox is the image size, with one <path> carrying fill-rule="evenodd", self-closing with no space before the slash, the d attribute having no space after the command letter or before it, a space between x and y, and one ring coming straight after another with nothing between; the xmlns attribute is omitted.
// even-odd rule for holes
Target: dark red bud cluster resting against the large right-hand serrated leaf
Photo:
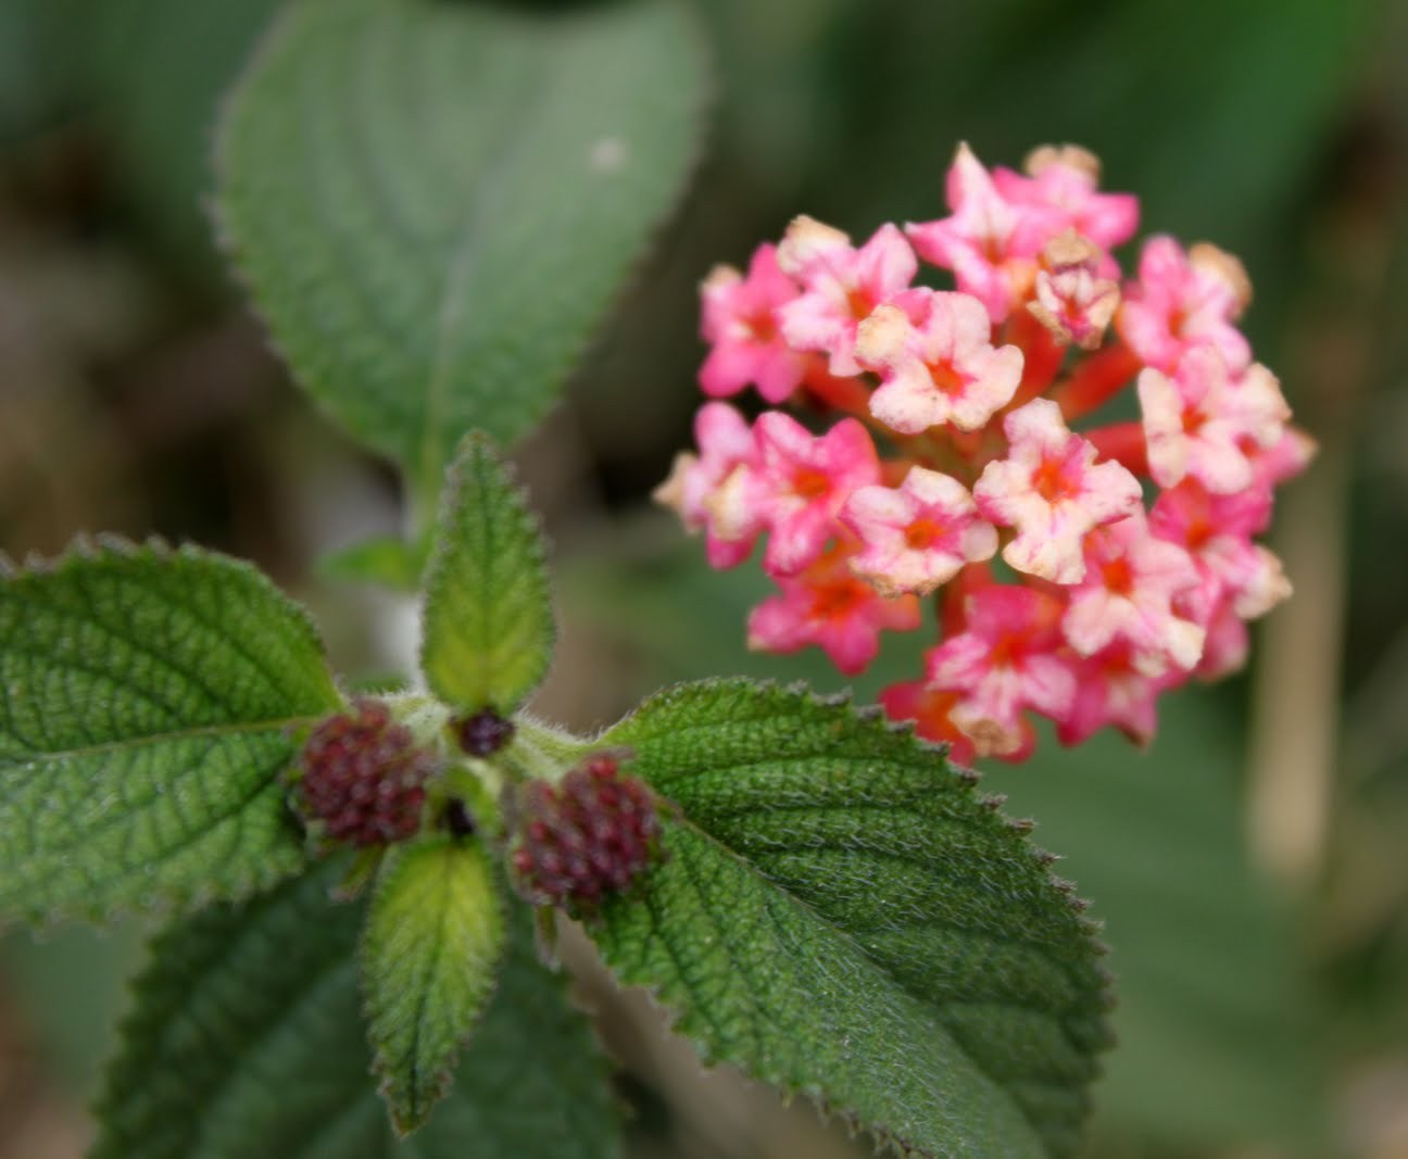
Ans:
<svg viewBox="0 0 1408 1159"><path fill-rule="evenodd" d="M660 820L645 782L622 776L617 759L597 753L559 784L522 787L520 844L513 865L529 901L590 913L620 893L655 859Z"/></svg>

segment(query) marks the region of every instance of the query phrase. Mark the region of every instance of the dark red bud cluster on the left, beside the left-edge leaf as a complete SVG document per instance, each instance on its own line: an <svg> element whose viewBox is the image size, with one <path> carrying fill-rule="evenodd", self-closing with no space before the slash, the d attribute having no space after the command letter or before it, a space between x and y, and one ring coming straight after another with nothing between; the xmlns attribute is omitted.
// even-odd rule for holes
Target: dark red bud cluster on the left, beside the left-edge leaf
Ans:
<svg viewBox="0 0 1408 1159"><path fill-rule="evenodd" d="M318 724L303 748L303 811L332 841L404 841L420 831L425 780L436 766L383 701L356 700L351 713Z"/></svg>

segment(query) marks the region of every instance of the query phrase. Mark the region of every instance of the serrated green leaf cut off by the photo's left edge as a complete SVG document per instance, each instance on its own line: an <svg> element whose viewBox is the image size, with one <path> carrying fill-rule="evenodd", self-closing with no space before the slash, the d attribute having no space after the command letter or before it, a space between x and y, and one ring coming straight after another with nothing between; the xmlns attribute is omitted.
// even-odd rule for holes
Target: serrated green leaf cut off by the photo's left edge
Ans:
<svg viewBox="0 0 1408 1159"><path fill-rule="evenodd" d="M0 577L0 915L238 897L294 873L280 775L339 703L253 568L107 541Z"/></svg>

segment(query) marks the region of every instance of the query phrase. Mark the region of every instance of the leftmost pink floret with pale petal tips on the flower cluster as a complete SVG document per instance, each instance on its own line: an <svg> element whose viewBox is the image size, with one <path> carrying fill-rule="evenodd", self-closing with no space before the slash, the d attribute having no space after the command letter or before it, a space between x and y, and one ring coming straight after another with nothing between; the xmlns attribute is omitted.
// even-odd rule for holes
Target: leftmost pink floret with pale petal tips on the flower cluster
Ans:
<svg viewBox="0 0 1408 1159"><path fill-rule="evenodd" d="M705 403L694 415L698 455L674 456L656 503L674 510L690 531L707 528L708 562L734 568L753 551L766 525L758 511L758 445L748 421L727 403Z"/></svg>

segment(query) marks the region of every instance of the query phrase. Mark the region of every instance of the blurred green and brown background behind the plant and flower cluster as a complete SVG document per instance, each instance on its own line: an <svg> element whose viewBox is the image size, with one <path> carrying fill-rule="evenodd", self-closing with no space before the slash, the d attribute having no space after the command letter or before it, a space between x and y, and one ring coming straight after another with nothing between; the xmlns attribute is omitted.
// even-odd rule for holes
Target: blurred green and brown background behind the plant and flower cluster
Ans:
<svg viewBox="0 0 1408 1159"><path fill-rule="evenodd" d="M448 3L448 0L445 0ZM1107 921L1121 977L1094 1156L1408 1156L1408 6L1383 0L696 0L707 161L569 400L521 449L565 635L542 711L604 724L665 680L838 689L743 649L718 575L649 489L689 439L696 284L790 217L867 235L990 163L1074 141L1145 231L1240 255L1257 355L1322 452L1276 548L1297 597L1243 677L1157 742L1049 739L991 773ZM211 241L211 125L273 0L0 0L0 548L199 539L310 601L348 672L413 614L317 559L400 522L394 473L287 383ZM649 99L643 94L642 99ZM912 675L897 641L860 697ZM0 1156L76 1156L142 931L0 941ZM636 1156L842 1156L810 1111L700 1080L591 967Z"/></svg>

